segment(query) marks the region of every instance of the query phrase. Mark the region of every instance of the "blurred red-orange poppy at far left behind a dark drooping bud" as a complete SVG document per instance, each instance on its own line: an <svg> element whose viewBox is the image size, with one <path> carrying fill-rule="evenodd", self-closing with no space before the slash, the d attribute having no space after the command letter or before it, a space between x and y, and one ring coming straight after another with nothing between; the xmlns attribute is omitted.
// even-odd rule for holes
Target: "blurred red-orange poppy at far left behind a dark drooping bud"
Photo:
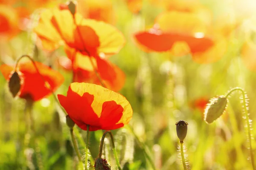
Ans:
<svg viewBox="0 0 256 170"><path fill-rule="evenodd" d="M52 70L41 62L35 62L35 65L53 91L57 90L64 82L64 77L58 71ZM23 79L23 85L19 94L20 98L38 101L51 94L51 91L47 88L47 84L45 84L40 74L38 74L32 62L22 62L18 65L17 69ZM9 80L14 67L4 64L0 66L0 71L4 78Z"/></svg>

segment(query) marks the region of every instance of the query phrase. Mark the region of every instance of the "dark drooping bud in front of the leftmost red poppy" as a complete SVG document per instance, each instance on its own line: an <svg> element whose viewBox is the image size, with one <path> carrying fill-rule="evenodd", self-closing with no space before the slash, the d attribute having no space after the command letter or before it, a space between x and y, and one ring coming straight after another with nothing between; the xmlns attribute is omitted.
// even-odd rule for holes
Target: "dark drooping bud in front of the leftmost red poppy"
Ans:
<svg viewBox="0 0 256 170"><path fill-rule="evenodd" d="M19 74L16 71L10 77L8 86L9 86L10 92L12 93L12 96L15 97L21 88L21 79Z"/></svg>

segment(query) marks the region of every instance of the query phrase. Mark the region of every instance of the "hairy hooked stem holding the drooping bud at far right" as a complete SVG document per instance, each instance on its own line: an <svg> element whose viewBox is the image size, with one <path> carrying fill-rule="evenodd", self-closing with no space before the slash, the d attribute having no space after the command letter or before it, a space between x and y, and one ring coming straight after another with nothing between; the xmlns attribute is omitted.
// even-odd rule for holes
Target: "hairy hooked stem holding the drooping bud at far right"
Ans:
<svg viewBox="0 0 256 170"><path fill-rule="evenodd" d="M250 129L250 120L249 120L249 116L248 116L248 110L247 110L247 106L246 106L246 99L245 99L245 92L242 88L233 88L231 89L227 95L226 98L232 94L234 91L241 91L242 96L243 96L243 108L244 108L244 112L245 112L245 121L246 121L246 125L247 125L247 133L248 133L248 141L249 141L249 150L250 150L250 159L251 159L251 163L253 166L253 170L255 170L255 164L254 164L254 156L253 156L253 148L252 148L252 139L251 139L251 129Z"/></svg>

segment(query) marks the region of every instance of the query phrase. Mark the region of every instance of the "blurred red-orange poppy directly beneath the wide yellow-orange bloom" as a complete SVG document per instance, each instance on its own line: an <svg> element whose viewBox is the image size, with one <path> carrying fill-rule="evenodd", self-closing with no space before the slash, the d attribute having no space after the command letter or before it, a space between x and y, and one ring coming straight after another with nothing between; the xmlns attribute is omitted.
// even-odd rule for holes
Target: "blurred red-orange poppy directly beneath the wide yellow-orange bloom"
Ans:
<svg viewBox="0 0 256 170"><path fill-rule="evenodd" d="M89 82L101 85L101 82L94 71L94 65L106 87L112 91L119 91L124 86L124 72L108 61L106 57L92 57L92 65L88 56L76 52L73 48L66 48L65 52L73 65L73 82ZM68 65L69 63L66 62L64 68L67 68Z"/></svg>

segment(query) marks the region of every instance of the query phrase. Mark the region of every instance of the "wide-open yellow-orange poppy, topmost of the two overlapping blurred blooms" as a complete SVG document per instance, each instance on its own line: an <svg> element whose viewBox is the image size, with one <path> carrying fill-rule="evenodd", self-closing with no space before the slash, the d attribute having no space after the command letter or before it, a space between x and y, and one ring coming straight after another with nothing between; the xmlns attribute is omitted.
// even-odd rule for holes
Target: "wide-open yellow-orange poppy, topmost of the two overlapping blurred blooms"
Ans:
<svg viewBox="0 0 256 170"><path fill-rule="evenodd" d="M43 11L34 31L41 39L43 48L48 51L55 50L65 42L90 56L100 53L109 56L118 53L125 44L122 33L110 24L84 19L78 13L74 22L73 15L66 9Z"/></svg>

